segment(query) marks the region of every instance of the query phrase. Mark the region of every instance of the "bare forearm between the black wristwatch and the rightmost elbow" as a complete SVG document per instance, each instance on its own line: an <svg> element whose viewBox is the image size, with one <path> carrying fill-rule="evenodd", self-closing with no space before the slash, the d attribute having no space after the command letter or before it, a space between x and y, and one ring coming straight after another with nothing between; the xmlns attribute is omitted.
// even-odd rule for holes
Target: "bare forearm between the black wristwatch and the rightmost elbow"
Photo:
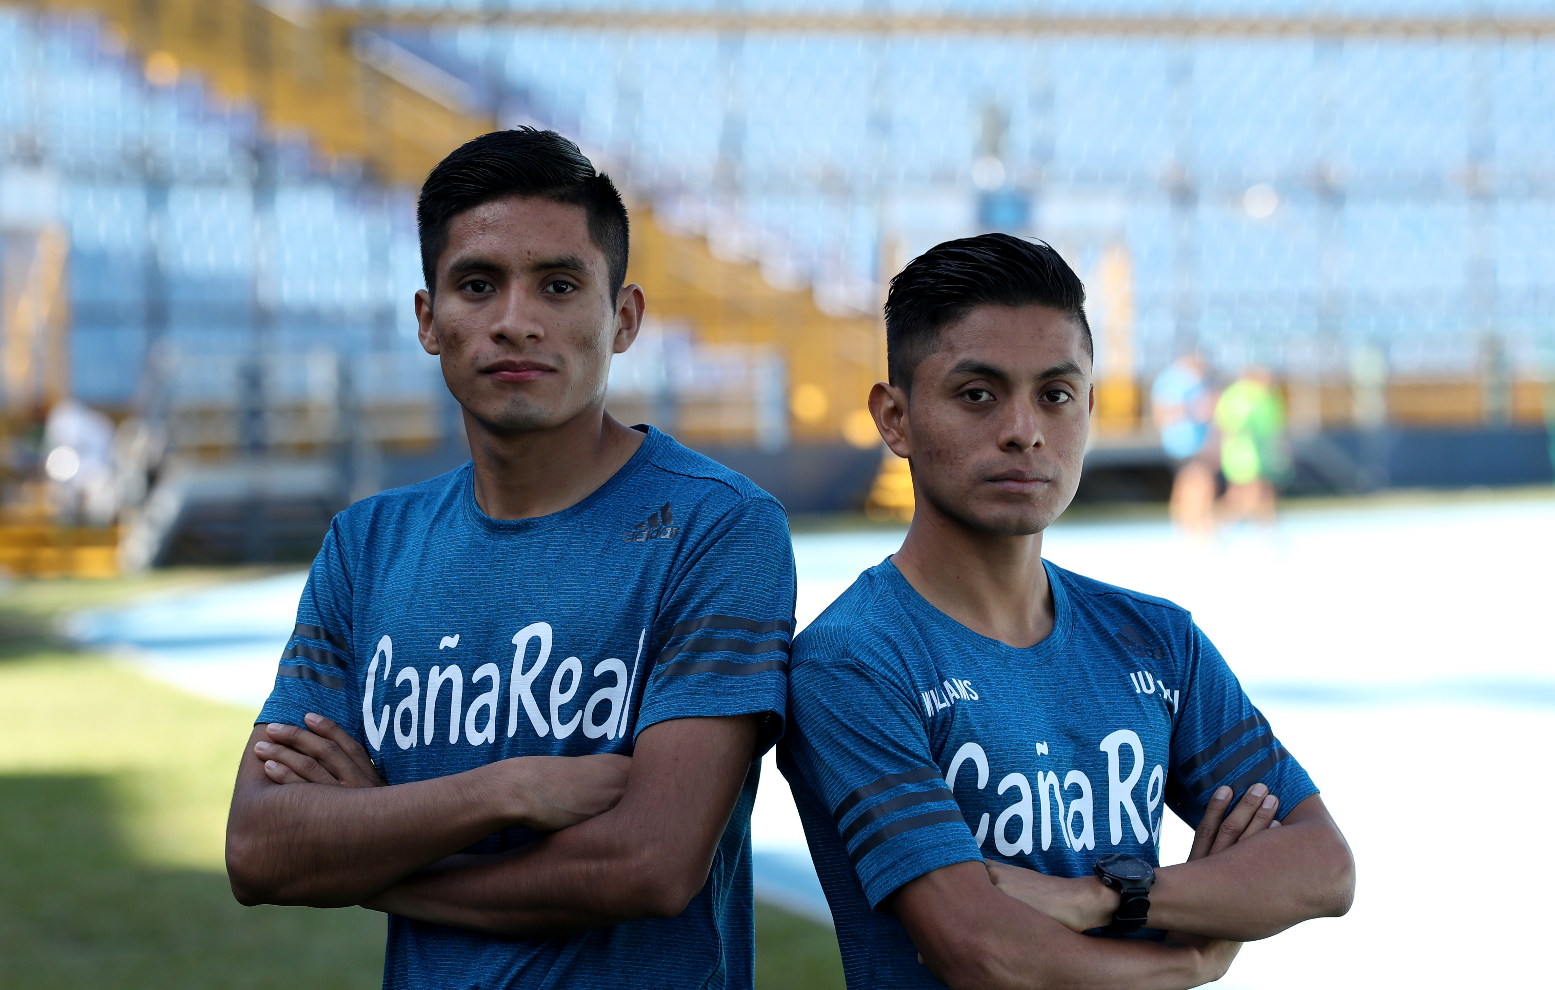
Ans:
<svg viewBox="0 0 1555 990"><path fill-rule="evenodd" d="M1340 915L1353 894L1350 847L1314 794L1280 828L1157 870L1149 925L1252 942L1309 919Z"/></svg>

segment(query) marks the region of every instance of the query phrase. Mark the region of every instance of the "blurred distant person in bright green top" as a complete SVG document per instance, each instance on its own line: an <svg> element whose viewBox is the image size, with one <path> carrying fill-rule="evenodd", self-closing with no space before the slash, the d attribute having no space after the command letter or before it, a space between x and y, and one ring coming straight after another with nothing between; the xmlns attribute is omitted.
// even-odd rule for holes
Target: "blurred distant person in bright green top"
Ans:
<svg viewBox="0 0 1555 990"><path fill-rule="evenodd" d="M1225 476L1225 521L1274 522L1275 485L1291 469L1284 444L1284 398L1267 368L1250 367L1214 404Z"/></svg>

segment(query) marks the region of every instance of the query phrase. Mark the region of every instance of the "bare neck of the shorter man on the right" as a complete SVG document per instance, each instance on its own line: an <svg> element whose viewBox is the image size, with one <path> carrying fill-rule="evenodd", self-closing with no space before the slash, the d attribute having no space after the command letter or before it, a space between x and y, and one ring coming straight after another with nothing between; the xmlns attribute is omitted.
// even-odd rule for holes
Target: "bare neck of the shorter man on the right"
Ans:
<svg viewBox="0 0 1555 990"><path fill-rule="evenodd" d="M913 525L891 561L930 605L973 633L1023 650L1053 631L1042 533L973 530L919 497Z"/></svg>

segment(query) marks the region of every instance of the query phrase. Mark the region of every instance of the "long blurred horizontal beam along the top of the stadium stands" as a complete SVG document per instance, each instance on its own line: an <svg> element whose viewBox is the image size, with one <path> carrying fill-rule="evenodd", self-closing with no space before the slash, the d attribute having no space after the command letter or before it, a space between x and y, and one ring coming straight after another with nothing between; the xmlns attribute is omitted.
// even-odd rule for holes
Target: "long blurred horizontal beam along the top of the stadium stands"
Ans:
<svg viewBox="0 0 1555 990"><path fill-rule="evenodd" d="M322 12L322 11L320 11ZM564 8L333 8L330 16L355 23L395 26L504 25L580 31L662 31L748 34L997 34L1093 37L1302 39L1370 37L1378 40L1494 40L1555 36L1555 17L1196 17L1196 16L1053 16L736 9L564 9Z"/></svg>

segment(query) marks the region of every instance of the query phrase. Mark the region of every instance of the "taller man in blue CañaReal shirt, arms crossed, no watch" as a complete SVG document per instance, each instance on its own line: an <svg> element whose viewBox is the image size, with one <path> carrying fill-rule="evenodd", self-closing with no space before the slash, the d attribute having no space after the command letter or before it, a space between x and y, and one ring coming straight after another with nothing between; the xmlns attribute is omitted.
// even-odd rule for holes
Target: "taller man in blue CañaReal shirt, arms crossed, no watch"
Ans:
<svg viewBox="0 0 1555 990"><path fill-rule="evenodd" d="M330 527L238 772L233 892L387 912L386 987L750 987L782 507L605 412L644 297L571 141L476 138L418 219L471 462Z"/></svg>

